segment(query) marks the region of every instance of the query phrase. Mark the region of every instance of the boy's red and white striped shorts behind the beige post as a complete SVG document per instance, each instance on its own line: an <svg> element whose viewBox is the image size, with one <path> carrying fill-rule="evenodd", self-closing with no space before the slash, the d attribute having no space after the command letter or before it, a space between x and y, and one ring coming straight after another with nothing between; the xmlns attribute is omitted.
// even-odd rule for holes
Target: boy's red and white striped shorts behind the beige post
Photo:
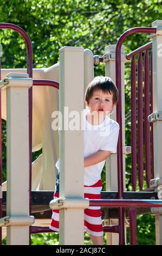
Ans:
<svg viewBox="0 0 162 256"><path fill-rule="evenodd" d="M84 186L84 197L89 199L101 199L102 181L99 180L92 186ZM58 198L59 193L54 193L54 198ZM103 235L101 220L101 208L99 206L85 209L85 231L94 236ZM53 210L50 229L59 232L59 210Z"/></svg>

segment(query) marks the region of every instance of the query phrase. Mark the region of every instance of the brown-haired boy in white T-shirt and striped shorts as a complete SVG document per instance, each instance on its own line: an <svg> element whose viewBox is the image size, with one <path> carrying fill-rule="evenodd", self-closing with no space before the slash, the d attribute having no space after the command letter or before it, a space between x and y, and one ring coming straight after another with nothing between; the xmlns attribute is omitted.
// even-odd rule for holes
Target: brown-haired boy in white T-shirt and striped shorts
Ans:
<svg viewBox="0 0 162 256"><path fill-rule="evenodd" d="M100 199L101 172L107 157L116 152L119 124L107 117L118 102L118 89L109 77L98 76L89 83L85 93L87 109L84 120L84 196ZM59 161L56 163L59 170ZM54 198L59 197L59 171L56 176ZM59 211L53 210L50 229L59 231ZM101 208L85 209L85 231L93 245L103 245Z"/></svg>

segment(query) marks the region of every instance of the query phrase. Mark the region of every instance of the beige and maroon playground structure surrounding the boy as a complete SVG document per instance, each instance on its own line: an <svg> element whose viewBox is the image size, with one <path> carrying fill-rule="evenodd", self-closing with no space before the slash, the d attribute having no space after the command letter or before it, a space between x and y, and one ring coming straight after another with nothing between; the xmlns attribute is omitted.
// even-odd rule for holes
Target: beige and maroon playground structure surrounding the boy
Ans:
<svg viewBox="0 0 162 256"><path fill-rule="evenodd" d="M136 241L137 208L152 208L156 222L156 242L162 244L162 217L159 189L162 185L161 169L162 148L160 131L162 130L162 89L161 56L159 45L162 43L162 21L155 21L152 28L132 28L121 35L115 46L107 46L102 58L93 56L90 50L82 47L63 47L60 50L60 63L48 69L34 69L32 46L27 34L15 25L0 24L0 28L11 28L24 36L28 49L27 70L1 70L2 118L7 119L7 179L3 184L3 200L7 193L7 217L2 217L1 226L7 227L7 243L10 245L28 245L30 234L49 232L47 227L36 227L31 205L34 198L46 199L50 208L60 210L60 244L83 244L83 209L87 206L108 206L118 208L118 216L105 218L104 231L113 244L119 235L119 244L125 244L125 211L129 212L131 244ZM152 42L137 50L125 54L122 43L127 36L134 33L151 33ZM148 51L151 53L151 81ZM145 161L146 182L148 191L143 190L143 108L142 108L142 52L145 51ZM138 54L138 174L137 190L137 136L136 136L136 68L135 56ZM125 108L124 108L124 66L131 62L131 148L125 146ZM112 154L106 162L106 189L102 200L83 198L83 133L80 131L60 131L59 135L51 129L51 114L64 106L69 112L83 109L84 88L94 77L94 63L105 62L105 74L111 77L119 89L119 103L112 118L120 125L118 153ZM77 65L74 65L77 63ZM60 72L60 78L59 78ZM11 73L10 75L7 75ZM26 74L28 73L29 76ZM22 74L22 75L21 75ZM150 113L151 82L151 113ZM58 92L60 90L60 93ZM7 94L7 96L6 96ZM72 96L73 97L72 100ZM29 101L28 101L29 99ZM33 100L33 111L32 111ZM41 102L41 103L40 103ZM59 107L60 104L60 107ZM7 109L6 107L7 106ZM33 115L32 115L33 114ZM151 114L151 115L150 115ZM29 118L28 118L29 116ZM151 140L150 123L151 121ZM1 118L0 118L1 119ZM33 126L32 126L33 119ZM33 134L32 134L33 133ZM31 141L32 140L32 141ZM153 143L151 143L153 142ZM152 150L150 150L150 144ZM70 145L70 150L69 150ZM31 182L31 151L42 148L42 155L33 163ZM77 148L77 150L76 150ZM132 151L132 152L131 152ZM125 191L125 154L132 154L132 187L133 192ZM2 149L1 149L2 154ZM151 155L152 154L152 155ZM52 200L55 162L60 159L60 199ZM152 157L151 157L152 156ZM152 159L152 161L151 161ZM2 157L1 157L2 160ZM152 163L152 168L151 168ZM2 163L1 163L2 167ZM68 167L68 168L67 168ZM2 168L1 168L2 169ZM22 172L23 170L23 172ZM151 173L152 170L152 173ZM151 176L152 175L152 176ZM70 182L69 182L70 176ZM1 184L0 184L1 185ZM118 185L118 186L117 186ZM7 189L6 189L7 188ZM33 196L31 193L33 190ZM7 190L7 192L5 191ZM21 191L21 193L20 193ZM116 191L116 192L114 192ZM37 193L38 192L38 193ZM116 199L116 197L118 199ZM45 199L44 199L45 198ZM49 199L50 198L50 199ZM155 200L152 200L154 198ZM31 200L32 199L32 200ZM47 199L48 203L47 203ZM40 201L39 201L40 202ZM41 204L41 203L40 203ZM37 204L37 205L40 205ZM44 203L44 205L46 205ZM5 203L3 203L5 205ZM43 205L43 203L42 203ZM5 208L4 208L5 209ZM49 209L49 208L48 208ZM41 210L42 211L42 208ZM34 211L33 211L34 212ZM36 211L35 211L36 212ZM46 209L44 210L46 212ZM108 219L108 220L107 220ZM118 222L119 219L119 222ZM79 221L78 221L79 220ZM50 222L50 220L49 220ZM41 220L39 220L41 223ZM73 225L72 225L73 223ZM5 230L4 230L5 232ZM51 231L50 231L51 232Z"/></svg>

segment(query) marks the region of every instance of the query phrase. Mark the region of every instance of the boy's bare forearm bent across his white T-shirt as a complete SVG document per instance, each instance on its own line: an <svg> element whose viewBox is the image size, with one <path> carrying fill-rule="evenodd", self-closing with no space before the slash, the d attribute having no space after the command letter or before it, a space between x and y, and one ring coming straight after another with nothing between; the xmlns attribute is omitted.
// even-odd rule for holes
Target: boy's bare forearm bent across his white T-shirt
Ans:
<svg viewBox="0 0 162 256"><path fill-rule="evenodd" d="M111 154L111 151L99 150L91 156L84 158L84 167L93 166L96 163L106 160L107 157Z"/></svg>

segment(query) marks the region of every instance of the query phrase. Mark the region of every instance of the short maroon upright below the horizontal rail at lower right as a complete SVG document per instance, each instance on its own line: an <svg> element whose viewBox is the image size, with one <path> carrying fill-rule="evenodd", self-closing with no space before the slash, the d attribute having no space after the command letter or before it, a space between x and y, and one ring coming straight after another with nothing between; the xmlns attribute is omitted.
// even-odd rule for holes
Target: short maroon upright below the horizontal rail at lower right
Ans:
<svg viewBox="0 0 162 256"><path fill-rule="evenodd" d="M128 208L129 212L129 224L130 224L130 242L131 245L137 245L137 208Z"/></svg>

